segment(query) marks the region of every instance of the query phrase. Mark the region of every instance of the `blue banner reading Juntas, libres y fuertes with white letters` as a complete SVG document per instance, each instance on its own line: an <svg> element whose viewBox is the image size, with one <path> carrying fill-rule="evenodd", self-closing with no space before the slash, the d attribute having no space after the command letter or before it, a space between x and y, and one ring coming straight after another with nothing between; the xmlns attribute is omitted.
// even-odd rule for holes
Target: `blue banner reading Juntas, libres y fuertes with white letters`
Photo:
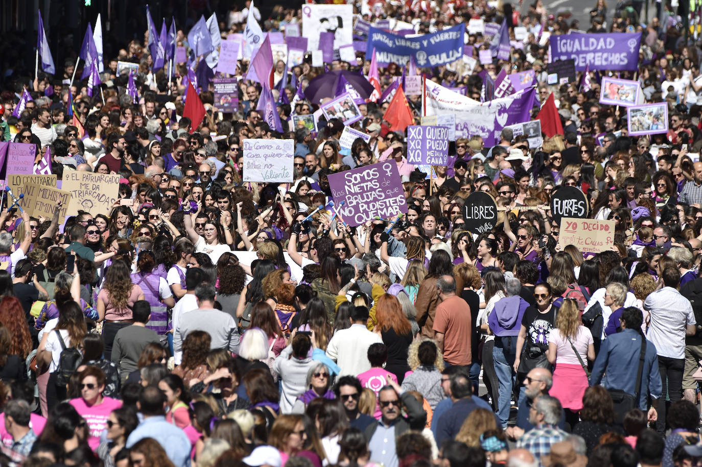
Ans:
<svg viewBox="0 0 702 467"><path fill-rule="evenodd" d="M465 24L461 24L434 34L406 37L371 27L366 57L371 57L375 49L378 66L385 67L390 62L407 63L410 55L414 56L418 67L446 65L463 57L464 31Z"/></svg>

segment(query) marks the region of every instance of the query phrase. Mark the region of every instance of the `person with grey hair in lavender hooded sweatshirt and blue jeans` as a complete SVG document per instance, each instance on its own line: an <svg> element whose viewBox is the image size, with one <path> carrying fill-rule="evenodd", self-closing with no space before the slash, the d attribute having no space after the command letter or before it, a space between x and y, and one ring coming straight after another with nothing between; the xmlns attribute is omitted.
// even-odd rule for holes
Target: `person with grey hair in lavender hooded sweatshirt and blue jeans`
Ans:
<svg viewBox="0 0 702 467"><path fill-rule="evenodd" d="M519 292L522 292L522 283L519 279L508 278L505 290L507 297L498 300L488 317L490 332L495 334L492 358L500 388L497 414L503 429L507 428L507 422L510 419L510 401L517 382L517 373L513 368L517 358L517 336L522 328L524 311L529 308L527 301L519 297Z"/></svg>

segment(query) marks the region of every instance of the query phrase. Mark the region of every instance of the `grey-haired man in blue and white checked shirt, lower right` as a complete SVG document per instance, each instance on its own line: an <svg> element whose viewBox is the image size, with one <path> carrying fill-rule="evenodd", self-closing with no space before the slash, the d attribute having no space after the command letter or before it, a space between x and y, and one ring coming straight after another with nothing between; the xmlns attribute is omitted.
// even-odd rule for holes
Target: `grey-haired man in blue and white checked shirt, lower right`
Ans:
<svg viewBox="0 0 702 467"><path fill-rule="evenodd" d="M568 436L568 433L557 426L562 411L563 407L557 398L539 395L529 411L529 421L536 428L524 433L524 436L517 440L517 447L528 449L536 459L550 454L551 446Z"/></svg>

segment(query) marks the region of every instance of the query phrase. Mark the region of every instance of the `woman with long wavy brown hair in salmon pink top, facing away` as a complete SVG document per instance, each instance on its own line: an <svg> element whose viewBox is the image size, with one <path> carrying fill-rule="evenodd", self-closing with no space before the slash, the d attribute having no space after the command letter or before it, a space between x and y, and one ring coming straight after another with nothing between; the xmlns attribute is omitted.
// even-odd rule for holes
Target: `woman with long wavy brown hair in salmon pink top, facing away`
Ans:
<svg viewBox="0 0 702 467"><path fill-rule="evenodd" d="M124 259L115 257L105 273L105 282L98 293L98 318L105 320L102 337L105 339L105 360L112 356L114 336L122 327L132 324L132 307L144 299L144 291L132 283L131 270Z"/></svg>

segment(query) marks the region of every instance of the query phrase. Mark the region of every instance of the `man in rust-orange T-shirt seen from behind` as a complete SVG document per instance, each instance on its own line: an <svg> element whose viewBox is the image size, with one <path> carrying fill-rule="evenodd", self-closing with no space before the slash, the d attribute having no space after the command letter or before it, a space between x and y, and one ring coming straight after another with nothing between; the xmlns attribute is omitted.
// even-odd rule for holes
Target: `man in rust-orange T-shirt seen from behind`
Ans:
<svg viewBox="0 0 702 467"><path fill-rule="evenodd" d="M447 365L468 368L472 362L470 306L456 295L456 280L453 276L441 276L437 280L437 292L442 302L437 306L432 323L434 339L439 344L439 350L444 353Z"/></svg>

